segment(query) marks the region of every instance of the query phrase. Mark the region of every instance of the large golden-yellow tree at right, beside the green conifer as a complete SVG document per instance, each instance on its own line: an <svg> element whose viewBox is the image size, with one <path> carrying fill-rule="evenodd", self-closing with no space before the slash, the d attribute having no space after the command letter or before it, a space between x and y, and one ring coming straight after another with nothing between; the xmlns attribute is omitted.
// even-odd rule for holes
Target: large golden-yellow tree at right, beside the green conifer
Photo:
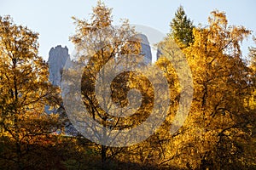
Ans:
<svg viewBox="0 0 256 170"><path fill-rule="evenodd" d="M228 26L218 11L208 21L207 28L194 29L195 42L183 48L194 79L194 100L188 119L172 137L166 161L189 169L249 168L252 156L245 146L252 139L253 111L245 100L252 92L252 77L240 42L250 31Z"/></svg>

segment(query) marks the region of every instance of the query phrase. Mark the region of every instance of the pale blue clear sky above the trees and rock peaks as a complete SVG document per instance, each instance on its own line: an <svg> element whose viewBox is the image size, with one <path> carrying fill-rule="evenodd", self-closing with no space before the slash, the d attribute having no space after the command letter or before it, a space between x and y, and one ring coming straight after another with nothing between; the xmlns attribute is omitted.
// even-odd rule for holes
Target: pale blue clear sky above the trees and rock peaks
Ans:
<svg viewBox="0 0 256 170"><path fill-rule="evenodd" d="M177 7L183 5L186 14L195 25L207 25L212 10L218 9L227 14L230 25L246 26L256 36L255 0L102 0L113 8L114 24L119 19L129 19L131 24L150 26L163 33L170 31L169 23ZM16 24L28 26L39 36L39 54L48 59L49 49L57 45L69 48L72 54L73 44L69 38L74 34L72 16L90 19L90 13L96 0L0 0L0 15L9 14ZM243 43L243 54L253 44L251 37Z"/></svg>

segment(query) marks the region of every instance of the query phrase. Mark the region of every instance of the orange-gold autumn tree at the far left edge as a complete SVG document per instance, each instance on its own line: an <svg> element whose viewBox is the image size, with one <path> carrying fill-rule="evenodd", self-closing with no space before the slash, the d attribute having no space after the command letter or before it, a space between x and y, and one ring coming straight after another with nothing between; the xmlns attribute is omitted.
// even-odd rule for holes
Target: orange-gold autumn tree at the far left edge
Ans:
<svg viewBox="0 0 256 170"><path fill-rule="evenodd" d="M53 144L58 119L47 115L44 105L55 105L55 90L48 82L48 66L38 56L38 33L15 25L10 16L0 17L1 167L33 168L40 154L32 155L32 150Z"/></svg>

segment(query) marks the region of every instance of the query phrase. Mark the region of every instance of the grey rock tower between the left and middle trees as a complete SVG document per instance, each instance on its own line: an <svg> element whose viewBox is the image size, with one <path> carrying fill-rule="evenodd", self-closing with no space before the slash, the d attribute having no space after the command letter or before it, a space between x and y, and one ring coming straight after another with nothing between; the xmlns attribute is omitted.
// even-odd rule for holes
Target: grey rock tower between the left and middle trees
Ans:
<svg viewBox="0 0 256 170"><path fill-rule="evenodd" d="M49 82L55 86L61 87L61 71L67 59L70 60L67 47L62 48L61 45L58 45L49 50Z"/></svg>

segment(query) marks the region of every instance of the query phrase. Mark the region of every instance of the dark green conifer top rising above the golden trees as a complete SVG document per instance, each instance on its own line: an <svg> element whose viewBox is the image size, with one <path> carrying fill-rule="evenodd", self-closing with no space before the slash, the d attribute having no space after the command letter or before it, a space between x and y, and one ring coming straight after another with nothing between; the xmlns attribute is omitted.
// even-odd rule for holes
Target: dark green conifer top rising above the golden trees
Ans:
<svg viewBox="0 0 256 170"><path fill-rule="evenodd" d="M169 37L172 37L180 48L186 48L190 43L194 42L193 36L193 22L189 20L187 14L183 9L183 6L177 8L175 17L170 23L171 33Z"/></svg>

